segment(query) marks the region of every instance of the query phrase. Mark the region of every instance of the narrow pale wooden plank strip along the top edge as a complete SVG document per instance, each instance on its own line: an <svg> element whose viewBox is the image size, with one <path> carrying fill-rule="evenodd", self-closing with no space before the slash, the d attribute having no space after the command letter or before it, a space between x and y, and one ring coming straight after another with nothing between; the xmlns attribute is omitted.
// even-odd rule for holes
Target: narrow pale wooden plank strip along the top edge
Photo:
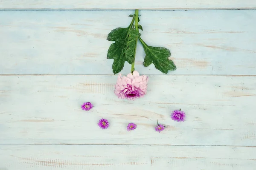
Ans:
<svg viewBox="0 0 256 170"><path fill-rule="evenodd" d="M1 0L0 8L33 9L233 9L256 8L254 0Z"/></svg>

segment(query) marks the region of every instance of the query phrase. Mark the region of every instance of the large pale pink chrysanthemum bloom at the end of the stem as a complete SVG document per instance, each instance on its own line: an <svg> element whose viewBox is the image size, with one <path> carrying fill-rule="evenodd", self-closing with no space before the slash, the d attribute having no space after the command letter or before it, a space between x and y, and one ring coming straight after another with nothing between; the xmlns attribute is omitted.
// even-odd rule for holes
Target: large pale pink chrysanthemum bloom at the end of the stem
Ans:
<svg viewBox="0 0 256 170"><path fill-rule="evenodd" d="M118 98L134 100L143 97L147 93L148 77L140 76L138 71L134 71L133 74L129 73L126 76L117 78L115 85L115 94Z"/></svg>

